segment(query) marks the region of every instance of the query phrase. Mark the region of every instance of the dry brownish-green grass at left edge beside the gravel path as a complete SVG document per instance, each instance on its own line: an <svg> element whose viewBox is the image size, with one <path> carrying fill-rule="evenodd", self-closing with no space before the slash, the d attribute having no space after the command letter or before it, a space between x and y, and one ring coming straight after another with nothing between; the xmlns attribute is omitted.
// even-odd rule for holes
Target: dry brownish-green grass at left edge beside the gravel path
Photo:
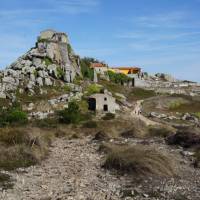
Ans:
<svg viewBox="0 0 200 200"><path fill-rule="evenodd" d="M14 170L39 163L48 154L54 134L37 128L0 129L0 169Z"/></svg>

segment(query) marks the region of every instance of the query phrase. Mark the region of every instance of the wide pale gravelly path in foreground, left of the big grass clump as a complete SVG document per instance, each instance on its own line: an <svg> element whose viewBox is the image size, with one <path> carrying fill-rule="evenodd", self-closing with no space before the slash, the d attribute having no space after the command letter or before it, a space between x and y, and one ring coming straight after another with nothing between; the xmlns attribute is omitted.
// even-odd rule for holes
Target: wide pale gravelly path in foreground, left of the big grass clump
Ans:
<svg viewBox="0 0 200 200"><path fill-rule="evenodd" d="M41 165L12 173L13 189L0 193L5 200L117 200L117 178L101 169L98 145L90 138L53 143Z"/></svg>

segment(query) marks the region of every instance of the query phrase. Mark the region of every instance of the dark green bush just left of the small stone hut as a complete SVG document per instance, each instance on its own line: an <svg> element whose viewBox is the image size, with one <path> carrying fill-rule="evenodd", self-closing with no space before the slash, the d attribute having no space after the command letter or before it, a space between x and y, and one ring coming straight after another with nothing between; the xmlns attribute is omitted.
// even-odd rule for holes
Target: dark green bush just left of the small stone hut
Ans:
<svg viewBox="0 0 200 200"><path fill-rule="evenodd" d="M68 108L59 112L60 122L66 124L77 124L81 120L79 105L77 102L72 101L69 103Z"/></svg>

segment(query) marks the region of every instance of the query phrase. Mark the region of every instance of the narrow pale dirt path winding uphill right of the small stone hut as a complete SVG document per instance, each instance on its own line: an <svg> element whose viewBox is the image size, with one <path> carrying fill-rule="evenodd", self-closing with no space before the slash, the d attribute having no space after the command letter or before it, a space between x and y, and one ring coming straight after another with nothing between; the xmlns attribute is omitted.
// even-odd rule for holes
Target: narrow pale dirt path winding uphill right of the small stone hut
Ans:
<svg viewBox="0 0 200 200"><path fill-rule="evenodd" d="M154 126L154 125L159 125L159 123L157 122L154 122L146 117L144 117L142 114L141 114L141 110L142 110L142 103L143 103L143 100L139 100L139 101L136 101L136 105L135 105L135 108L134 110L131 112L131 116L134 117L134 118L137 118L137 119L140 119L141 121L143 121L147 126Z"/></svg>

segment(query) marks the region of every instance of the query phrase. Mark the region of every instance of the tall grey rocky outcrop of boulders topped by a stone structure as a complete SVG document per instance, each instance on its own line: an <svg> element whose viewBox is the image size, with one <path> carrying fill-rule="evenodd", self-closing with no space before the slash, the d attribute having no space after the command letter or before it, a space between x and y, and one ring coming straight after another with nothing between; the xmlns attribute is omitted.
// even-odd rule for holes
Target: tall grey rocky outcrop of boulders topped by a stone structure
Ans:
<svg viewBox="0 0 200 200"><path fill-rule="evenodd" d="M34 93L36 86L52 86L56 79L70 83L81 76L79 59L65 33L43 31L34 48L0 72L0 98L14 96L18 88Z"/></svg>

